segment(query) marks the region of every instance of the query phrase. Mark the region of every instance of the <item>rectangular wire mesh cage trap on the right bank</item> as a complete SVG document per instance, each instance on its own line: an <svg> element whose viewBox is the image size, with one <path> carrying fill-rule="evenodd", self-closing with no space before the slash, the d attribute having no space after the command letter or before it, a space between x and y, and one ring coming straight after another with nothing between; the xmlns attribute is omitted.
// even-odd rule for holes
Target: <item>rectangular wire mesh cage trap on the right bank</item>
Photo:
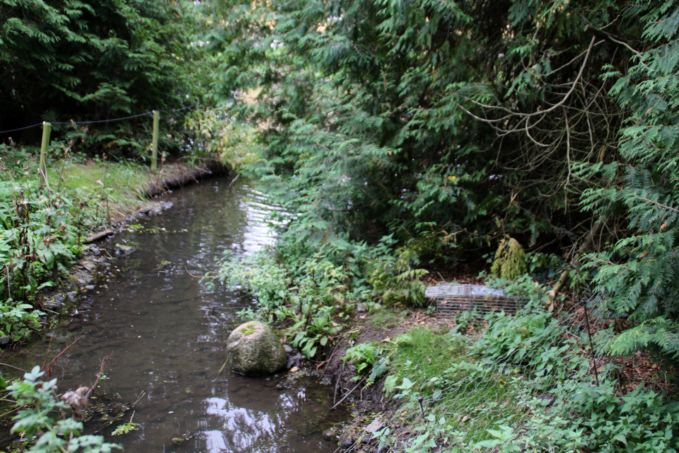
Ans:
<svg viewBox="0 0 679 453"><path fill-rule="evenodd" d="M439 283L426 288L424 296L436 299L436 317L452 318L468 311L482 318L493 311L516 313L528 302L522 297L509 297L502 289L484 285L460 285L458 283Z"/></svg>

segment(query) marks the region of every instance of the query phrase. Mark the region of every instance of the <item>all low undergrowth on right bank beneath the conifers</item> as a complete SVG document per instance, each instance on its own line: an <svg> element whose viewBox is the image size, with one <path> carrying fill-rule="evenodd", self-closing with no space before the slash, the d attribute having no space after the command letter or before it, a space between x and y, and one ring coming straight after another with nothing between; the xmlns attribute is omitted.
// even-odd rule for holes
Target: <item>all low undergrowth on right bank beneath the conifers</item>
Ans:
<svg viewBox="0 0 679 453"><path fill-rule="evenodd" d="M332 238L299 255L303 239L288 234L275 251L240 262L227 256L219 278L256 294L257 309L242 315L282 326L307 357L320 360L333 340L352 342L342 331L359 304L382 325L398 322L397 316L389 321L394 309L422 306L417 260L394 250L390 237L375 246ZM381 386L393 408L378 415L383 428L373 433L374 447L422 453L679 448L679 404L643 383L620 389L605 318L593 319L600 329L590 339L582 304L561 295L564 308L552 313L548 288L529 275L482 277L521 295L525 309L484 319L468 313L452 330L419 327L347 350L344 363L356 367L356 379Z"/></svg>

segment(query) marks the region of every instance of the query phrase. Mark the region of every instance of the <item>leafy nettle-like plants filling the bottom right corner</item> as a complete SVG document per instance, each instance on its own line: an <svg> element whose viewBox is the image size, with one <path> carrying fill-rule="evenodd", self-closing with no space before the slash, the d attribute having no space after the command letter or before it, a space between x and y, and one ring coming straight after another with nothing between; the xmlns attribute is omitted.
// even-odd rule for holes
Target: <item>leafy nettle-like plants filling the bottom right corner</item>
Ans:
<svg viewBox="0 0 679 453"><path fill-rule="evenodd" d="M519 429L504 426L479 447L516 452L672 452L679 451L679 403L637 387L615 394L615 382L601 385L572 379L552 394L557 403L533 415Z"/></svg>

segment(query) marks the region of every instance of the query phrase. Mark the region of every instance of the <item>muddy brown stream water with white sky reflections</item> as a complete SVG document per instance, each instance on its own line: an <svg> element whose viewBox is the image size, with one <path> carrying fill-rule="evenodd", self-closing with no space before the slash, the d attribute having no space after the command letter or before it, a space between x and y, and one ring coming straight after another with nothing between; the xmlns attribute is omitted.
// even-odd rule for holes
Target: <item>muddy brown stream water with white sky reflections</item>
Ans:
<svg viewBox="0 0 679 453"><path fill-rule="evenodd" d="M225 250L243 256L274 241L263 221L274 208L248 182L228 183L207 180L175 191L163 215L141 219L143 228L110 241L136 251L108 260L118 276L86 292L77 314L55 331L56 352L81 339L57 360L52 376L59 391L89 386L100 360L110 357L92 402L138 401L108 426L98 416L105 420L94 429L108 435L134 411L139 430L107 439L127 452L332 452L337 441L324 440L321 430L338 415L328 415L332 391L318 378L246 378L228 367L219 374L226 338L240 323L236 312L254 302L219 285L208 292L192 275L214 269ZM49 340L3 361L24 369L42 365ZM176 445L178 437L188 440Z"/></svg>

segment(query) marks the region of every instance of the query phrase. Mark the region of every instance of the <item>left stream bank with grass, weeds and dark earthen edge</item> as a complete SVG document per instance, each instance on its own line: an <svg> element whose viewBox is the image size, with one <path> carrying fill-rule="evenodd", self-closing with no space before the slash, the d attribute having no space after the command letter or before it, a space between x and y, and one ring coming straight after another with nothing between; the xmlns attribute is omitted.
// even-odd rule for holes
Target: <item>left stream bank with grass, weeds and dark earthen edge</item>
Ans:
<svg viewBox="0 0 679 453"><path fill-rule="evenodd" d="M28 161L21 168L5 167L1 174L4 192L0 202L15 216L15 219L5 219L6 258L10 263L16 262L3 273L6 281L2 288L8 289L6 296L16 299L15 304L33 306L33 311L26 311L23 318L6 319L6 324L0 327L3 347L24 344L36 328L50 325L52 317L76 294L91 289L105 270L100 264L110 265L99 256L95 242L119 233L127 228L126 224L140 217L166 210L168 202L154 200L159 195L202 178L228 173L224 164L208 160L199 167L164 164L156 173L125 162L64 161L51 166L47 183L37 188L27 179L32 173L31 165L33 162ZM34 190L35 193L25 195ZM22 205L30 207L28 214L21 210ZM46 217L42 214L45 212ZM45 224L50 228L45 229ZM60 233L64 230L65 235ZM16 241L13 237L26 236L19 239L21 243L30 235L37 236L31 239L35 246L28 253L30 269L35 269L35 275L24 270L21 254L26 252L13 250L18 247L13 244ZM32 288L23 297L21 294L17 297L16 289L9 286L9 282L14 284L20 278L30 278Z"/></svg>

